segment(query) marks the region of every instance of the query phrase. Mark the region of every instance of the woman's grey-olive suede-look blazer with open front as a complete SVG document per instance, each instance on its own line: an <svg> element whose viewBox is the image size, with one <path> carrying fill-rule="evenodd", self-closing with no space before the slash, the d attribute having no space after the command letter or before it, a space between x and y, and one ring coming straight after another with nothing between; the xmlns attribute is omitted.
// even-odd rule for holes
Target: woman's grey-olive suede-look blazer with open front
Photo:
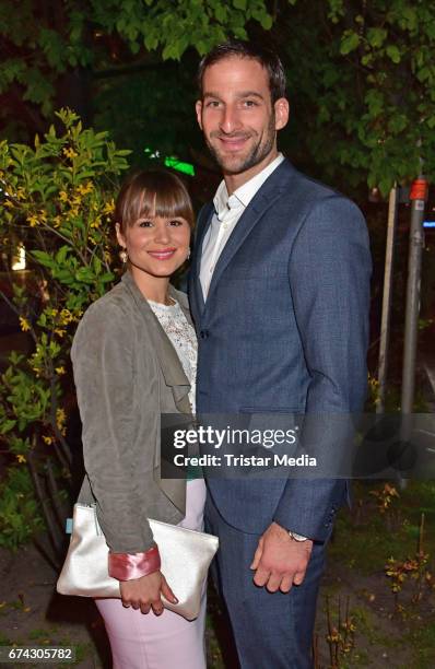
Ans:
<svg viewBox="0 0 435 669"><path fill-rule="evenodd" d="M190 322L187 297L171 286ZM160 478L161 413L189 413L189 380L129 271L85 312L71 359L87 477L79 496L96 502L110 550L153 545L146 518L177 524L186 482Z"/></svg>

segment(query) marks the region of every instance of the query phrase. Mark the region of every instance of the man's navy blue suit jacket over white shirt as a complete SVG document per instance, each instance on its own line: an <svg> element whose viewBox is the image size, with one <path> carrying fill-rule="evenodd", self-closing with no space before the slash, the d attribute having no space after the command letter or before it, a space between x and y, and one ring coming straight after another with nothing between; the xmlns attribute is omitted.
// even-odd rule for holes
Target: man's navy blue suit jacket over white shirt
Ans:
<svg viewBox="0 0 435 669"><path fill-rule="evenodd" d="M361 411L372 263L357 207L283 161L237 222L204 304L200 256L213 211L200 212L189 280L198 413ZM275 520L319 541L346 491L343 479L210 478L208 485L233 527L261 533Z"/></svg>

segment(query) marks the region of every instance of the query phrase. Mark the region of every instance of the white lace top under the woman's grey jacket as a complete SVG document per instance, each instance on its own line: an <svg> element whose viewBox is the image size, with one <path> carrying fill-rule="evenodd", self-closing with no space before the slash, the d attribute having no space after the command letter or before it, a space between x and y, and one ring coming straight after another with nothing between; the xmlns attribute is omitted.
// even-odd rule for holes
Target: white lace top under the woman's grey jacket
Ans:
<svg viewBox="0 0 435 669"><path fill-rule="evenodd" d="M177 352L185 374L190 382L189 400L195 414L195 391L197 379L198 344L192 326L187 322L178 302L166 306L158 302L148 301L166 334Z"/></svg>

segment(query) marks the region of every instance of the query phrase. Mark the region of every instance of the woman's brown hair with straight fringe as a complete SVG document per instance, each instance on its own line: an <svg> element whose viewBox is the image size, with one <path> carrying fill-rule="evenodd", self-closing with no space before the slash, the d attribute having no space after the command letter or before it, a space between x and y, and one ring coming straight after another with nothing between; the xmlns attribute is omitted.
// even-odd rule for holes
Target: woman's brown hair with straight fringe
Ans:
<svg viewBox="0 0 435 669"><path fill-rule="evenodd" d="M193 227L195 214L186 186L172 172L138 172L122 185L115 204L114 220L120 232L143 216L181 218Z"/></svg>

